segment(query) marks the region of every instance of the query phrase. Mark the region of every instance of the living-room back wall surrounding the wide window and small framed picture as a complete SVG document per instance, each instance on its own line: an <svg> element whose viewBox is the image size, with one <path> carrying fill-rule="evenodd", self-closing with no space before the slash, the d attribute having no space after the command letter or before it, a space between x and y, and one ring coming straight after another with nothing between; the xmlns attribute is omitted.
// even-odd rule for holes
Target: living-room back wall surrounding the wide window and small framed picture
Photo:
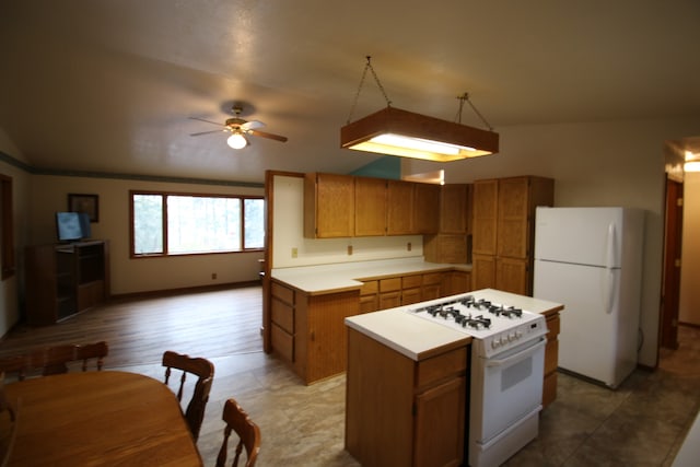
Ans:
<svg viewBox="0 0 700 467"><path fill-rule="evenodd" d="M93 238L109 241L112 293L245 282L258 279L261 252L195 255L167 258L129 258L129 190L149 189L224 195L264 195L262 188L154 183L112 178L34 175L32 177L32 244L55 243L54 213L68 209L68 194L94 194L100 199L100 221ZM212 280L211 275L217 273Z"/></svg>

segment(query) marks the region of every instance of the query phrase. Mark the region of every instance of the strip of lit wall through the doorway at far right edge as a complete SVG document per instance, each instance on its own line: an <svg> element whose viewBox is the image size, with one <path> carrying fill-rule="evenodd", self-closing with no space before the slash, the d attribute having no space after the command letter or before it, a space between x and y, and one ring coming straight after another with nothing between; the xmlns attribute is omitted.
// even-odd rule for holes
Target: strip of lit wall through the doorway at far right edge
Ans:
<svg viewBox="0 0 700 467"><path fill-rule="evenodd" d="M700 325L700 173L686 173L682 203L682 264L678 319Z"/></svg>

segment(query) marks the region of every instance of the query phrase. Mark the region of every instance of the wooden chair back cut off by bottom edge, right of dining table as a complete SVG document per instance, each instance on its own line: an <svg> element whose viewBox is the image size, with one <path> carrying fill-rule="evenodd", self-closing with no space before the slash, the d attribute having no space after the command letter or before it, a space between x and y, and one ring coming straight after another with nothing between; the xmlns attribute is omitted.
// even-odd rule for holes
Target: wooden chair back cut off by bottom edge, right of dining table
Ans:
<svg viewBox="0 0 700 467"><path fill-rule="evenodd" d="M235 399L229 399L223 406L223 416L221 417L226 422L226 428L223 430L223 444L219 450L219 456L217 457L217 467L224 467L226 464L226 453L229 452L229 436L231 431L235 431L238 435L238 444L236 445L236 455L233 458L233 467L238 465L238 458L241 457L241 451L245 446L245 453L247 462L245 467L253 467L258 458L260 451L260 429L243 408L236 402Z"/></svg>

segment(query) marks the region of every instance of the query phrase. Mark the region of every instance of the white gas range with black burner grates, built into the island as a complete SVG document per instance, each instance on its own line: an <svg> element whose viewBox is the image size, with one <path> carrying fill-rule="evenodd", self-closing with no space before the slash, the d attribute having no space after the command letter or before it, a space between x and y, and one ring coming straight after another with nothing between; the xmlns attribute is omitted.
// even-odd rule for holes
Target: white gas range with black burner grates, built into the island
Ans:
<svg viewBox="0 0 700 467"><path fill-rule="evenodd" d="M472 337L468 458L498 466L537 436L547 324L489 289L422 302L407 313Z"/></svg>

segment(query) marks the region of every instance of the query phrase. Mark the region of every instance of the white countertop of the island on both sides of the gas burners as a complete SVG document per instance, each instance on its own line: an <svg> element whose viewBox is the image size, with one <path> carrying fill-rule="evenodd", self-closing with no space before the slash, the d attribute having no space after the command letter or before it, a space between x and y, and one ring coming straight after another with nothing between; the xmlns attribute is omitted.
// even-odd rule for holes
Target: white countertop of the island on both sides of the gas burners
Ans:
<svg viewBox="0 0 700 467"><path fill-rule="evenodd" d="M560 303L533 299L493 289L468 292L475 299L488 297L493 302L508 303L533 313L547 313L563 308ZM459 294L464 295L464 294ZM442 297L430 302L450 300ZM427 303L430 303L427 302ZM398 306L375 313L365 313L346 318L346 326L382 342L411 360L420 361L430 357L438 349L450 349L467 345L471 337L447 326L422 319L406 313L418 304Z"/></svg>

